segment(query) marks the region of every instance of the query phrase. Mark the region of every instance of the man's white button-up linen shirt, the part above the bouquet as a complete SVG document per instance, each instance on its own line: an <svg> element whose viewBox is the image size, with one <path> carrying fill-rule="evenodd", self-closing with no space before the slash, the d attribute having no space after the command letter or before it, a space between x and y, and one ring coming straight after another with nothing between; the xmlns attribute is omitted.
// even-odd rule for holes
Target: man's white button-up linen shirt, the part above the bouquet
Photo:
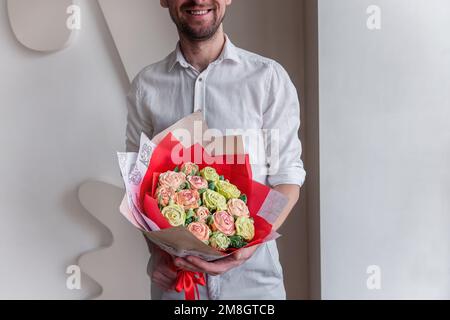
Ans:
<svg viewBox="0 0 450 320"><path fill-rule="evenodd" d="M278 170L270 170L267 139L263 146L245 144L254 179L272 187L304 183L300 106L292 81L280 64L235 47L228 37L219 58L203 72L186 61L178 44L164 60L136 76L127 105L127 151L139 149L142 132L152 138L181 118L202 111L208 127L222 134L279 130L273 136L277 137ZM259 156L261 150L266 153L264 159Z"/></svg>

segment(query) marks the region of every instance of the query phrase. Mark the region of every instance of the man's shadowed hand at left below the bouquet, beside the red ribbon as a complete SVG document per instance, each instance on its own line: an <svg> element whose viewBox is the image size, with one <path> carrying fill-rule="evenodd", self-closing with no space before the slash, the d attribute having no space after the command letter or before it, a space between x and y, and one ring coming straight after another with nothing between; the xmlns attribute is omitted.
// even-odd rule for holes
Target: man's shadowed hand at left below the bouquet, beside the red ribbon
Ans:
<svg viewBox="0 0 450 320"><path fill-rule="evenodd" d="M150 271L152 282L164 291L174 290L177 269L173 264L173 257L156 246L152 248L152 256Z"/></svg>

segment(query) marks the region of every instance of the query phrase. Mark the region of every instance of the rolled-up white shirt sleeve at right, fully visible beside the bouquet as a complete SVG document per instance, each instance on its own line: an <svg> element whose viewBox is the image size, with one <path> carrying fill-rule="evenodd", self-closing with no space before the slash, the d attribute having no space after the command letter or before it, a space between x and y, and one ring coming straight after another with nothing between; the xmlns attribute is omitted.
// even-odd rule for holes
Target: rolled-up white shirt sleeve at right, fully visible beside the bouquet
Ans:
<svg viewBox="0 0 450 320"><path fill-rule="evenodd" d="M263 115L268 182L302 186L302 144L299 138L300 102L297 90L284 68L274 62L268 83L268 105Z"/></svg>

